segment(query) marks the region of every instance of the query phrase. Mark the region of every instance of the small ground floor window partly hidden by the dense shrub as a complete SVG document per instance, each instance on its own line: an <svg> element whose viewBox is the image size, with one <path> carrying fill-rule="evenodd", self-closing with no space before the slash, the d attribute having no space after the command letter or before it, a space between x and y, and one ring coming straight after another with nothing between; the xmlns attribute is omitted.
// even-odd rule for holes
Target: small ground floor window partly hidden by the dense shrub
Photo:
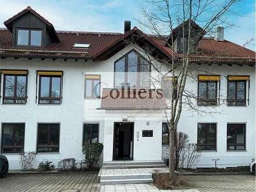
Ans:
<svg viewBox="0 0 256 192"><path fill-rule="evenodd" d="M99 138L98 123L84 123L83 130L83 145L96 143Z"/></svg>

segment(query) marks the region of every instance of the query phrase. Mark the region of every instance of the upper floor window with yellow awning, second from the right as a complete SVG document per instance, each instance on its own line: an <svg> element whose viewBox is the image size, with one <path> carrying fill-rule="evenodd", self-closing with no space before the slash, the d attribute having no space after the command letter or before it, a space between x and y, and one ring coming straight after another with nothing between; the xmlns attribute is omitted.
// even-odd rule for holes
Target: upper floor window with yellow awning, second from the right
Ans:
<svg viewBox="0 0 256 192"><path fill-rule="evenodd" d="M198 76L198 105L217 105L219 76Z"/></svg>

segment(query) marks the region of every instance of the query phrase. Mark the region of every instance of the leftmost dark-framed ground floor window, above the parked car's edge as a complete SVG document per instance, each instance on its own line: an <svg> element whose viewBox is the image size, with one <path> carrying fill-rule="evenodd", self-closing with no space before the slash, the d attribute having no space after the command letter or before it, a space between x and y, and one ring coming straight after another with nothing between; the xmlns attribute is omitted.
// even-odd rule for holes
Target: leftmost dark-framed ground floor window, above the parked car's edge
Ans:
<svg viewBox="0 0 256 192"><path fill-rule="evenodd" d="M24 151L25 123L2 123L2 154Z"/></svg>

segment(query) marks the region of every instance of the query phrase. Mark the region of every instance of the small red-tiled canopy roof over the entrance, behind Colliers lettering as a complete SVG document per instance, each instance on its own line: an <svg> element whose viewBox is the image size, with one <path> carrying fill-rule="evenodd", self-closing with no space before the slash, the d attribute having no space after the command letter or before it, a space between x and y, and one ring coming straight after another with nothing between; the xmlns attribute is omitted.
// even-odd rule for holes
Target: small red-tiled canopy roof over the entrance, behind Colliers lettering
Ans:
<svg viewBox="0 0 256 192"><path fill-rule="evenodd" d="M99 109L168 109L168 106L156 90L150 93L149 90L103 88Z"/></svg>

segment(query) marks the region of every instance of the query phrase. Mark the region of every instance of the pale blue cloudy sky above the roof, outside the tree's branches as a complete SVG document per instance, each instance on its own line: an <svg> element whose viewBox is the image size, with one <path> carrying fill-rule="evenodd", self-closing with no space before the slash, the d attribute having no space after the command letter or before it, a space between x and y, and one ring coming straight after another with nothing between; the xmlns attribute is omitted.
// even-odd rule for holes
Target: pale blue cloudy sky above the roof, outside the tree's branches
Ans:
<svg viewBox="0 0 256 192"><path fill-rule="evenodd" d="M225 0L222 0L225 1ZM0 27L3 22L27 6L49 20L56 30L70 31L106 31L123 33L123 21L141 17L140 8L144 0L0 0ZM250 38L255 38L255 0L242 0L234 6L241 16L230 17L236 24L233 29L225 29L226 40L243 45ZM255 45L248 48L255 50Z"/></svg>

